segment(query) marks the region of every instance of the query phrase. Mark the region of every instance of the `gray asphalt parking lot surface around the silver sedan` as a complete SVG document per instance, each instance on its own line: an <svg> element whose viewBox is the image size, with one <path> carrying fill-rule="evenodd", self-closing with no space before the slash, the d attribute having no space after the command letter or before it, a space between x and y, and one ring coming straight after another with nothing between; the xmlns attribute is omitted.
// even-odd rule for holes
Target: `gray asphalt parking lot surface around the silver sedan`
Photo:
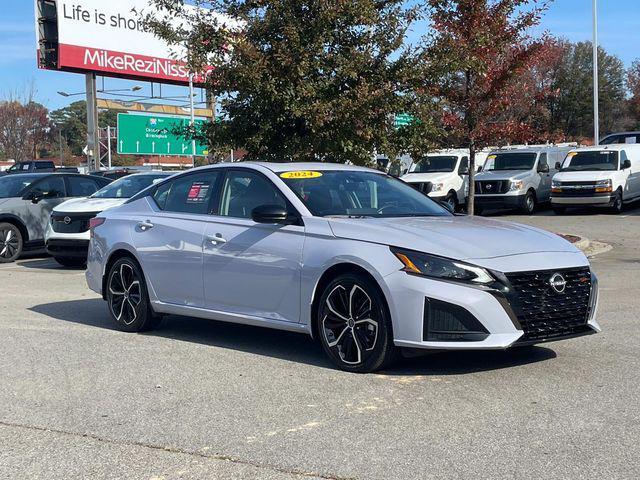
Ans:
<svg viewBox="0 0 640 480"><path fill-rule="evenodd" d="M82 271L0 266L0 477L640 477L640 207L503 218L613 247L604 333L353 375L292 333L120 333Z"/></svg>

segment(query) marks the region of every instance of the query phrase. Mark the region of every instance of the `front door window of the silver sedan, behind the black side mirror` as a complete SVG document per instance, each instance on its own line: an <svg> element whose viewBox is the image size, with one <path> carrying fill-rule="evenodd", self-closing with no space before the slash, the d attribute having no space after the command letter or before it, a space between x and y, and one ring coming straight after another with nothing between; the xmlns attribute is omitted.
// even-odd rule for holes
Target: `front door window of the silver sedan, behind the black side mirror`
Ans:
<svg viewBox="0 0 640 480"><path fill-rule="evenodd" d="M253 209L261 205L287 208L287 201L262 175L249 171L229 171L222 189L220 215L251 218Z"/></svg>

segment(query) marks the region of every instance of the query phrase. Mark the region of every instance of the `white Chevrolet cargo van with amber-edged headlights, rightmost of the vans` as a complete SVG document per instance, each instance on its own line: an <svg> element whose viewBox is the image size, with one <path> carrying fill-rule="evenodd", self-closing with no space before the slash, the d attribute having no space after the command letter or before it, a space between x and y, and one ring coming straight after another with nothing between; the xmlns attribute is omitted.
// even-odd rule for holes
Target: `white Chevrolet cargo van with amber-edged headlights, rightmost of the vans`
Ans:
<svg viewBox="0 0 640 480"><path fill-rule="evenodd" d="M572 150L553 177L551 206L604 206L622 212L640 200L640 145L616 144Z"/></svg>

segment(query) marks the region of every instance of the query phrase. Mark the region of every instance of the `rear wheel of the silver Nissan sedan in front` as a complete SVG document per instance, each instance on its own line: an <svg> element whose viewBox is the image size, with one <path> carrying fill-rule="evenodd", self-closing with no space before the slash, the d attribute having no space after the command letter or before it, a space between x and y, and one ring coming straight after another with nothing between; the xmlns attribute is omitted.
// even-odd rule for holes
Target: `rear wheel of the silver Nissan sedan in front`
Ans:
<svg viewBox="0 0 640 480"><path fill-rule="evenodd" d="M142 270L131 258L121 258L109 269L106 296L109 313L119 330L144 332L159 324L160 317L149 304Z"/></svg>

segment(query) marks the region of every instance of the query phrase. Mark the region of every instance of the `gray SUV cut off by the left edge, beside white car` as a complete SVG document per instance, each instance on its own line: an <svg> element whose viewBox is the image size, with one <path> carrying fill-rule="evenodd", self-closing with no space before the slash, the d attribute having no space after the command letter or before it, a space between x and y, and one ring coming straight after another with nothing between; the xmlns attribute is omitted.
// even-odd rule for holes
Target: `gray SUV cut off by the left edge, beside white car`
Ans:
<svg viewBox="0 0 640 480"><path fill-rule="evenodd" d="M0 178L0 263L44 247L51 210L72 197L88 197L110 180L89 175L29 173Z"/></svg>

